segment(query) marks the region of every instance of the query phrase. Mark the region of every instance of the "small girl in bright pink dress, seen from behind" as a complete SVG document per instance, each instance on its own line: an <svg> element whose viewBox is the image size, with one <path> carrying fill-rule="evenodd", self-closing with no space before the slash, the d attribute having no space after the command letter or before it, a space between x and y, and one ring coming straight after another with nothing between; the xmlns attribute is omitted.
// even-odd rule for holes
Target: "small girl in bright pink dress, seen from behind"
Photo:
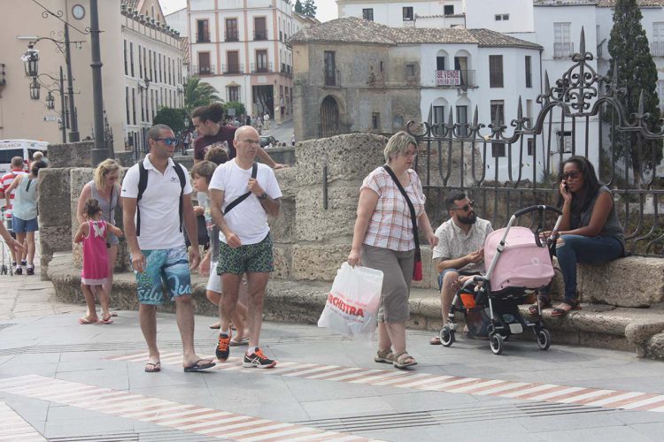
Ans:
<svg viewBox="0 0 664 442"><path fill-rule="evenodd" d="M106 254L106 236L112 232L121 237L122 231L106 223L102 217L102 209L95 198L85 202L84 209L87 221L79 227L73 241L83 243L83 271L81 271L81 290L88 304L85 316L79 318L79 324L112 324L111 312L108 309L108 293L104 292L103 284L108 278L108 255ZM97 316L95 293L102 306L102 318Z"/></svg>

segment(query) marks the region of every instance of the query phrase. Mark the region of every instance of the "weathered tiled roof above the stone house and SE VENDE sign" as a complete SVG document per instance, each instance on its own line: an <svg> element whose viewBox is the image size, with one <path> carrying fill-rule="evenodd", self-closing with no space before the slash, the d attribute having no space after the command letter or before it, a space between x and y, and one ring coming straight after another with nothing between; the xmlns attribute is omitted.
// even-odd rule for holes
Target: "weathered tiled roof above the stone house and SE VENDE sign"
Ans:
<svg viewBox="0 0 664 442"><path fill-rule="evenodd" d="M348 42L385 45L468 43L477 44L480 47L541 48L538 44L489 29L386 27L357 17L345 17L307 27L290 37L290 42Z"/></svg>

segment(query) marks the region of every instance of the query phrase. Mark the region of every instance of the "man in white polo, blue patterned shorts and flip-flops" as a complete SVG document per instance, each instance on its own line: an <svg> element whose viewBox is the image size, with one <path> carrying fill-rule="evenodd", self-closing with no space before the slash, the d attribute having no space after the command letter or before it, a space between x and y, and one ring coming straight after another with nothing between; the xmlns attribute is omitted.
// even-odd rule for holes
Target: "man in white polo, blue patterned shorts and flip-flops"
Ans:
<svg viewBox="0 0 664 442"><path fill-rule="evenodd" d="M164 303L162 284L166 286L171 301L175 301L184 371L200 371L214 366L214 362L198 357L194 350L190 270L196 269L201 256L197 235L192 234L189 235L191 248L187 259L182 224L187 232L197 232L197 224L191 203L189 173L172 159L176 144L177 138L170 127L152 126L148 131L150 153L142 162L147 183L140 200L139 164L129 168L122 181L122 219L138 288L138 316L150 352L145 364L148 373L161 370L157 347L157 305ZM175 170L176 167L181 168L182 174ZM184 187L181 186L181 176Z"/></svg>

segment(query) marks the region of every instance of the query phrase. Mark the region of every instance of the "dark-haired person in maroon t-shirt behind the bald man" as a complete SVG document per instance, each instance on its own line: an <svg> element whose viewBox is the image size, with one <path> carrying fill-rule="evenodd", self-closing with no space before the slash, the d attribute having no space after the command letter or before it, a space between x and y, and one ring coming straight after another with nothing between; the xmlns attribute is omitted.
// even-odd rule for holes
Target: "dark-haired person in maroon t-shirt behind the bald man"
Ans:
<svg viewBox="0 0 664 442"><path fill-rule="evenodd" d="M205 153L216 147L225 149L229 160L235 158L235 144L233 141L235 140L235 131L238 128L224 125L222 123L223 118L224 108L221 103L199 106L191 113L191 122L198 132L198 138L194 141L194 163L203 161ZM275 163L260 146L258 156L273 169L288 167L285 164Z"/></svg>

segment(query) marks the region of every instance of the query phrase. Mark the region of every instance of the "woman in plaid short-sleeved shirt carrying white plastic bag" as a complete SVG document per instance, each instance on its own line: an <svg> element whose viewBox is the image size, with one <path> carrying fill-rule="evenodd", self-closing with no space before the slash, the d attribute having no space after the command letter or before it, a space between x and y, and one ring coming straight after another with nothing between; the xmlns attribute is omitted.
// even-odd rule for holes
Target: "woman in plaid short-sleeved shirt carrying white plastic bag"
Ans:
<svg viewBox="0 0 664 442"><path fill-rule="evenodd" d="M417 365L405 349L405 322L410 316L408 297L413 278L415 241L418 240L413 236L410 204L417 224L432 248L436 246L437 238L424 211L426 198L420 177L411 168L417 156L417 141L405 132L395 133L383 153L387 164L369 173L360 187L358 217L348 263L352 266L362 263L382 271L381 306L377 318L378 353L374 361L405 369ZM388 168L398 183L391 178ZM405 189L407 197L398 184Z"/></svg>

